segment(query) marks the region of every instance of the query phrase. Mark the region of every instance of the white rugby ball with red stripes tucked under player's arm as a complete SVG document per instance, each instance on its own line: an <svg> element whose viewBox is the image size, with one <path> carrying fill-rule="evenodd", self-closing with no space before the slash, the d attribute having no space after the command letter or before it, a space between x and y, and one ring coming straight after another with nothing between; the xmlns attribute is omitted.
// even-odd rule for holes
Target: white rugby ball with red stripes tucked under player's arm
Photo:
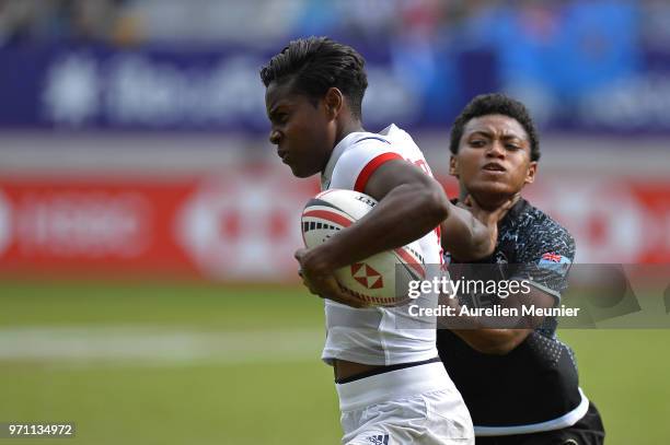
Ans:
<svg viewBox="0 0 670 445"><path fill-rule="evenodd" d="M327 243L377 206L377 200L353 190L331 189L312 198L302 211L302 238L308 248ZM382 251L335 271L343 291L372 306L407 302L409 281L426 276L418 242Z"/></svg>

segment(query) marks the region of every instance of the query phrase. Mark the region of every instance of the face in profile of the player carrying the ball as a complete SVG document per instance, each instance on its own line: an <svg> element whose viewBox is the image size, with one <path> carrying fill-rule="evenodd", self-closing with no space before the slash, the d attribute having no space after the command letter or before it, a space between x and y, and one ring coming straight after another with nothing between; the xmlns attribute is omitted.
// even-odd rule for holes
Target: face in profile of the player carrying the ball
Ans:
<svg viewBox="0 0 670 445"><path fill-rule="evenodd" d="M272 128L269 141L297 177L321 172L335 147L335 124L323 101L316 104L291 91L291 81L268 85L265 106Z"/></svg>

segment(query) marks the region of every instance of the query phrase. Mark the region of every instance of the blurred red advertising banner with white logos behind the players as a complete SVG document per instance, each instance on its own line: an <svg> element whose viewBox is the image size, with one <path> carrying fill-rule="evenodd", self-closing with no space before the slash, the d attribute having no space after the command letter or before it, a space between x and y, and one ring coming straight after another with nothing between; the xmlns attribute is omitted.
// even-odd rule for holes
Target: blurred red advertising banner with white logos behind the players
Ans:
<svg viewBox="0 0 670 445"><path fill-rule="evenodd" d="M293 280L315 192L314 180L266 166L0 178L0 272ZM548 176L527 195L570 230L576 262L670 262L670 180Z"/></svg>

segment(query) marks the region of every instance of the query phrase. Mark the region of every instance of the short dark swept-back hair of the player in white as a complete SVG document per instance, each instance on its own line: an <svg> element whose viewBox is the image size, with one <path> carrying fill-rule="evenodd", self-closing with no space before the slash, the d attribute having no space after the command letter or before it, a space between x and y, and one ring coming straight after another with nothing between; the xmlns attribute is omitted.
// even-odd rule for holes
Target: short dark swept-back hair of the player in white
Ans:
<svg viewBox="0 0 670 445"><path fill-rule="evenodd" d="M360 119L368 87L365 63L356 49L328 37L299 38L261 69L261 80L266 87L270 82L292 80L297 92L315 99L334 86L347 97L351 113Z"/></svg>

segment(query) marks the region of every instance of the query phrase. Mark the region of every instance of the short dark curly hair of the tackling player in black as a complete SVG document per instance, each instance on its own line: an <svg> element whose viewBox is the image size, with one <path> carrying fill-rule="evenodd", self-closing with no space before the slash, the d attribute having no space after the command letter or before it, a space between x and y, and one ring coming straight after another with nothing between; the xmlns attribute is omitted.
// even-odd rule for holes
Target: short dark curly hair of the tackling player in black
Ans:
<svg viewBox="0 0 670 445"><path fill-rule="evenodd" d="M538 130L535 129L535 124L528 108L521 102L500 93L478 95L463 108L463 112L455 118L451 127L451 141L449 144L451 153L457 154L459 152L459 143L463 137L465 125L476 117L487 115L509 116L521 124L530 141L531 161L538 161L540 159Z"/></svg>

